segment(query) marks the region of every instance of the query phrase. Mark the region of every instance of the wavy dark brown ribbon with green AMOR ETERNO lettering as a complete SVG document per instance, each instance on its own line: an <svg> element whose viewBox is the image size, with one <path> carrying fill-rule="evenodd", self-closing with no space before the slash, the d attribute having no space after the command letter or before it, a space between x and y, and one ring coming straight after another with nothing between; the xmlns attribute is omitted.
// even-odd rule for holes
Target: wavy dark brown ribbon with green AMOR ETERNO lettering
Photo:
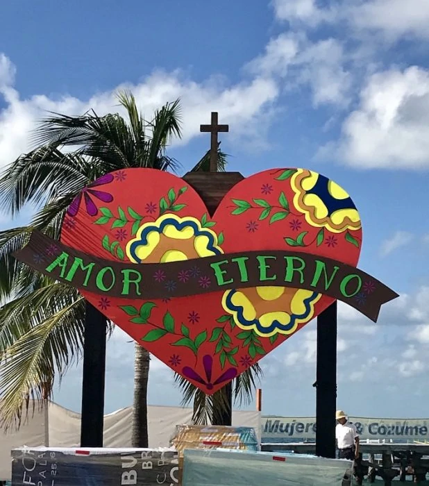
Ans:
<svg viewBox="0 0 429 486"><path fill-rule="evenodd" d="M126 263L87 255L38 231L14 254L78 290L124 299L165 299L246 287L312 290L348 303L376 322L398 294L364 271L297 251L246 251L169 263Z"/></svg>

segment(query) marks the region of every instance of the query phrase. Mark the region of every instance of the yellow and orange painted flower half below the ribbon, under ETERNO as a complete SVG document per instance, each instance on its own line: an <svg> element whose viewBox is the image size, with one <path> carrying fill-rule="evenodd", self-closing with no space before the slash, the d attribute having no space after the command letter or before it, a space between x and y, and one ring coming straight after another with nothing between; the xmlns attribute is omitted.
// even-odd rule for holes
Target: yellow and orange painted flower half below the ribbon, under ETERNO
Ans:
<svg viewBox="0 0 429 486"><path fill-rule="evenodd" d="M251 287L227 290L222 306L235 324L260 336L289 335L310 321L321 294L289 287Z"/></svg>

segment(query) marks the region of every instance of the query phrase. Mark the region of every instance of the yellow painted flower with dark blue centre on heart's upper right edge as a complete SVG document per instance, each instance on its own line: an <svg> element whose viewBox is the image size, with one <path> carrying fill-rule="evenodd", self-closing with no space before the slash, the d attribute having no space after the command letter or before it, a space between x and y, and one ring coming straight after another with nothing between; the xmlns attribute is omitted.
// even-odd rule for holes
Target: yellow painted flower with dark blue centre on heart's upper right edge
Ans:
<svg viewBox="0 0 429 486"><path fill-rule="evenodd" d="M311 226L327 228L333 233L361 227L356 206L342 187L325 176L298 169L291 178L294 206L305 215Z"/></svg>

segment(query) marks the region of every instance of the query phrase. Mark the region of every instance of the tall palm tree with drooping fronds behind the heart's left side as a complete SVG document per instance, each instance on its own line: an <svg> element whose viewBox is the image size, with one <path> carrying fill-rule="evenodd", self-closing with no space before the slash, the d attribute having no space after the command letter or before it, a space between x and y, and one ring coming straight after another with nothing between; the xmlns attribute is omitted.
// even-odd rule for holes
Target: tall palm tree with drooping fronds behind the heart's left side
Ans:
<svg viewBox="0 0 429 486"><path fill-rule="evenodd" d="M56 380L81 358L85 321L85 301L76 290L38 274L12 253L26 244L33 229L58 239L76 194L106 172L126 167L178 169L166 147L172 137L181 136L179 101L162 106L146 121L132 94L120 93L118 98L127 120L117 113L99 117L93 111L44 119L33 138L37 148L19 157L0 178L3 211L15 217L28 206L36 210L28 226L0 232L0 412L6 426L20 417L30 397L39 403L49 398ZM194 169L208 170L208 160L206 153ZM219 150L220 170L225 160ZM107 324L110 333L112 324ZM148 351L136 344L133 446L148 443L149 360ZM191 389L186 392L190 396Z"/></svg>

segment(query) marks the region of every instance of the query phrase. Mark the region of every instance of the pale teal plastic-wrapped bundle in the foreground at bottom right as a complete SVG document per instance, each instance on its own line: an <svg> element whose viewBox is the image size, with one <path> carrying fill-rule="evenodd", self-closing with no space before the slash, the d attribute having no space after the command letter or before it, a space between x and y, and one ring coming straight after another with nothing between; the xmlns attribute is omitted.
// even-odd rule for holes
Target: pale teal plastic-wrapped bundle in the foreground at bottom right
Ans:
<svg viewBox="0 0 429 486"><path fill-rule="evenodd" d="M310 455L185 450L182 486L346 486L351 462Z"/></svg>

